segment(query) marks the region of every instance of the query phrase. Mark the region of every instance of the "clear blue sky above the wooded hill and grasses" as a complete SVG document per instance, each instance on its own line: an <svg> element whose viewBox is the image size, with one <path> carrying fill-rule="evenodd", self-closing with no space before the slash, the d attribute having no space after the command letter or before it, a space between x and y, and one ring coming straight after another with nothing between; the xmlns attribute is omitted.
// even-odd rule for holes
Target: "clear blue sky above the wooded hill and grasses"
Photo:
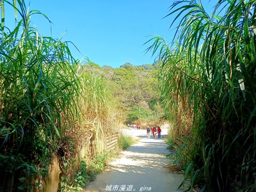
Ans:
<svg viewBox="0 0 256 192"><path fill-rule="evenodd" d="M70 44L75 58L87 56L99 66L119 67L126 62L133 65L153 64L154 58L143 46L151 37L160 35L171 42L174 31L169 30L171 17L165 17L174 0L25 0L29 10L46 14L49 22L40 15L31 21L43 36L52 35ZM6 20L14 21L13 9ZM7 17L7 15L6 15ZM7 22L6 22L7 23Z"/></svg>

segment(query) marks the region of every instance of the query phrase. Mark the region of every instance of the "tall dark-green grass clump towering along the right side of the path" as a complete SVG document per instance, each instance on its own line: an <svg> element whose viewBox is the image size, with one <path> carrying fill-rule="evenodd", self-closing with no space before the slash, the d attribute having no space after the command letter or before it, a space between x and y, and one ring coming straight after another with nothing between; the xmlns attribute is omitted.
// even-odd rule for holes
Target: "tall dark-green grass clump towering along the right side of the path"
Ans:
<svg viewBox="0 0 256 192"><path fill-rule="evenodd" d="M148 48L163 61L166 111L190 118L185 180L202 191L253 190L256 3L219 0L209 15L198 2L170 6L169 15L178 15L174 22L180 18L174 49L161 37Z"/></svg>

